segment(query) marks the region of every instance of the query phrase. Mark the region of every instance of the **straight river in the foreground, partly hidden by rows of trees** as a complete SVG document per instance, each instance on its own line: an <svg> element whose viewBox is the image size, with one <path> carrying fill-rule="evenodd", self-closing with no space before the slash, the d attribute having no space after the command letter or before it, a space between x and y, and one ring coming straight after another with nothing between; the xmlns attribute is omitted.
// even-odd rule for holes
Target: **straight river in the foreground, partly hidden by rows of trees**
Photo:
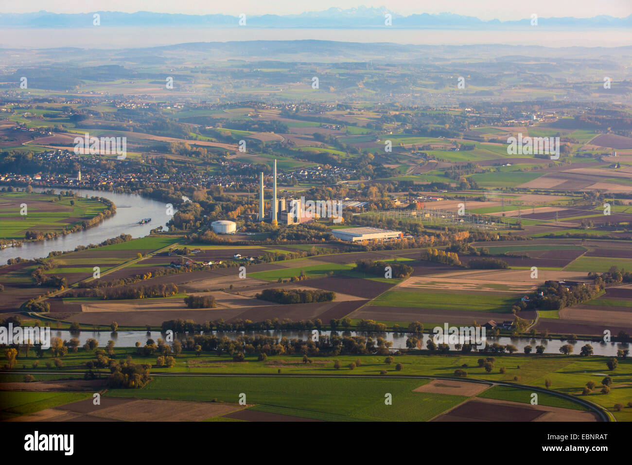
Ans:
<svg viewBox="0 0 632 465"><path fill-rule="evenodd" d="M239 332L239 331L226 331L226 332L211 332L214 335L218 336L226 336L230 339L233 339L239 335L265 335L271 336L281 339L282 337L287 337L289 339L296 338L302 340L308 340L312 338L312 332L310 331L257 331L257 332ZM207 333L210 334L210 333ZM337 332L338 335L343 335L343 332ZM331 335L331 331L321 331L321 336ZM377 337L382 337L386 341L391 341L393 343L393 349L406 349L406 339L408 335L401 333L366 333L366 332L349 332L351 336L363 336L367 337L370 335L375 341ZM186 334L176 334L176 339L184 340L186 338ZM61 339L70 340L70 338L76 337L80 340L81 344L85 344L85 341L88 338L94 338L99 342L99 347L104 347L107 345L108 340L114 341L114 347L135 347L136 342L140 342L141 345L145 345L148 338L152 338L154 341L157 341L158 338L166 339L166 335L164 333L160 333L157 331L152 331L147 333L145 331L118 331L116 333L111 333L108 331L92 331L92 330L82 330L79 333L73 332L71 333L69 330L56 330L51 328L51 337L59 337ZM423 335L423 347L426 347L426 341L430 338L430 335ZM593 353L595 355L607 356L607 357L616 357L617 349L628 349L629 345L627 344L619 344L616 342L608 342L608 343L599 343L592 342L588 340L577 340L576 342L568 342L561 341L556 339L532 339L530 337L522 337L522 338L511 338L511 337L488 337L487 342L489 344L494 344L497 342L501 345L513 344L518 348L518 353L523 354L523 349L525 345L531 345L533 347L533 353L535 354L535 346L536 345L544 345L544 353L545 354L557 354L559 355L559 348L564 344L571 344L574 347L573 354L579 354L581 346L585 344L590 344L593 347ZM454 350L454 347L452 347Z"/></svg>

